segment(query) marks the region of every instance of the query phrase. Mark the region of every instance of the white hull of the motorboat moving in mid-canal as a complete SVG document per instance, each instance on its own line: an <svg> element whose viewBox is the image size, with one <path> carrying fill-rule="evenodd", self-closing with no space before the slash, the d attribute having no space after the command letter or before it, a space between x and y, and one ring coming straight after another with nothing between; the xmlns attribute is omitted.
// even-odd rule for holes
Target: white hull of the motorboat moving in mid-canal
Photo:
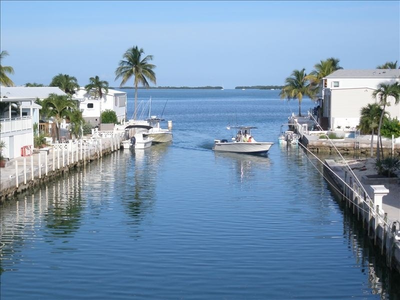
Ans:
<svg viewBox="0 0 400 300"><path fill-rule="evenodd" d="M219 152L235 152L245 154L267 153L273 142L220 142L215 141L212 149Z"/></svg>

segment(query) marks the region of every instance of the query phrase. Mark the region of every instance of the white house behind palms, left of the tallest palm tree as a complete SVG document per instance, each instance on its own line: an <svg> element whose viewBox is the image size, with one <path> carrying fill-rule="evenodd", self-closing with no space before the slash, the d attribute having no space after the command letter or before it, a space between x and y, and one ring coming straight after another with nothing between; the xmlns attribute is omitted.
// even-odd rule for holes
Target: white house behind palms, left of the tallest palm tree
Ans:
<svg viewBox="0 0 400 300"><path fill-rule="evenodd" d="M107 109L115 111L119 122L126 120L126 92L108 89L101 98L96 98L92 91L86 91L81 87L73 98L79 101L84 120L93 127L100 124L100 114Z"/></svg>

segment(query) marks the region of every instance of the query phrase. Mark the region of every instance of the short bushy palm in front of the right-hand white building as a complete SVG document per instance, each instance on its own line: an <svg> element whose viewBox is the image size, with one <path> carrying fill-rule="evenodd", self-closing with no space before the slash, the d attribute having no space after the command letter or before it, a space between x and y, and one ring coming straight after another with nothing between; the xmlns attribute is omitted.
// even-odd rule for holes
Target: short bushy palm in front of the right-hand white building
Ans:
<svg viewBox="0 0 400 300"><path fill-rule="evenodd" d="M378 126L379 117L382 113L382 107L378 103L368 103L361 107L358 128L363 134L371 134L370 155L373 153L373 135L374 129Z"/></svg>

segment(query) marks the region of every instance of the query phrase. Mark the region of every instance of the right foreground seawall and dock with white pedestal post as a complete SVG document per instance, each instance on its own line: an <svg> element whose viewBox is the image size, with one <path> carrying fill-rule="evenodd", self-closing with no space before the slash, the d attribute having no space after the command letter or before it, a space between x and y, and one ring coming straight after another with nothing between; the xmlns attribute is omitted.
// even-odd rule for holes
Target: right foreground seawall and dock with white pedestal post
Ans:
<svg viewBox="0 0 400 300"><path fill-rule="evenodd" d="M372 161L353 160L346 165L326 159L323 172L337 191L339 201L357 218L374 246L384 255L386 265L400 273L399 178L365 180L368 171L373 169ZM363 179L359 180L361 177Z"/></svg>

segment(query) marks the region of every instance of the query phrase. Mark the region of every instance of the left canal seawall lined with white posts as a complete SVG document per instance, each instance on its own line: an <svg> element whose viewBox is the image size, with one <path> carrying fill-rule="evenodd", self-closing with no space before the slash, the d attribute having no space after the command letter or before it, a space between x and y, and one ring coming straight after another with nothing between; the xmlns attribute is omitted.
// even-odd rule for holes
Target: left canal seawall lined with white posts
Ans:
<svg viewBox="0 0 400 300"><path fill-rule="evenodd" d="M10 159L0 169L0 203L70 169L120 149L122 134L53 144L29 156Z"/></svg>

